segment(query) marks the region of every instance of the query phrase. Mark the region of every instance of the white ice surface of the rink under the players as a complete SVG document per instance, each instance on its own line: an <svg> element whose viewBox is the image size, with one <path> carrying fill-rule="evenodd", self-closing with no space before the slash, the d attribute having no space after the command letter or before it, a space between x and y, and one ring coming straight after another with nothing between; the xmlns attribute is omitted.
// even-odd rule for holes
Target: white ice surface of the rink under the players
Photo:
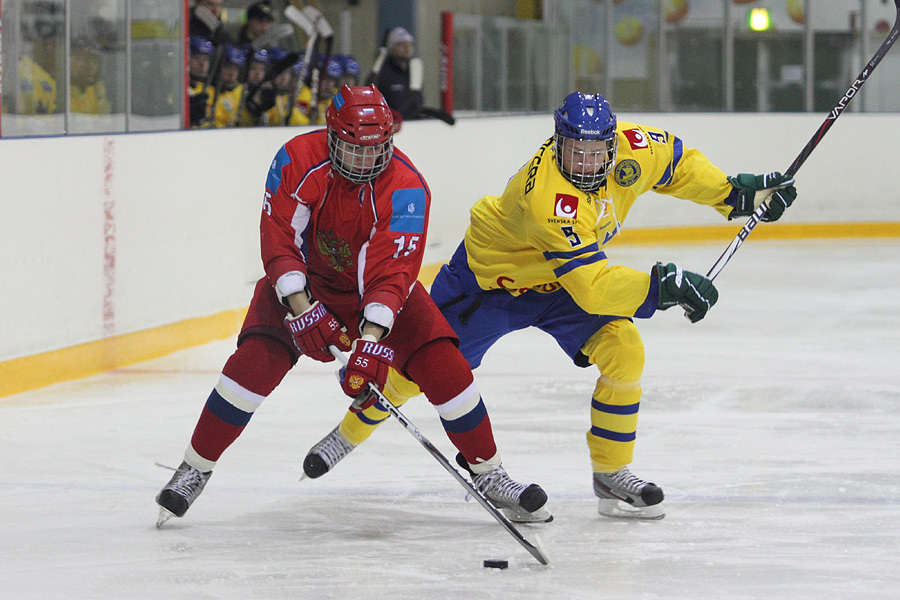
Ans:
<svg viewBox="0 0 900 600"><path fill-rule="evenodd" d="M621 247L698 271L724 244ZM155 527L233 341L0 399L0 598L900 597L900 240L750 240L691 325L640 322L633 471L667 516L596 513L584 433L596 372L539 331L476 371L504 464L555 520L539 565L399 424L319 480L309 446L347 399L301 362L183 519ZM248 295L249 300L249 295ZM434 410L407 416L448 457ZM510 567L485 569L486 558Z"/></svg>

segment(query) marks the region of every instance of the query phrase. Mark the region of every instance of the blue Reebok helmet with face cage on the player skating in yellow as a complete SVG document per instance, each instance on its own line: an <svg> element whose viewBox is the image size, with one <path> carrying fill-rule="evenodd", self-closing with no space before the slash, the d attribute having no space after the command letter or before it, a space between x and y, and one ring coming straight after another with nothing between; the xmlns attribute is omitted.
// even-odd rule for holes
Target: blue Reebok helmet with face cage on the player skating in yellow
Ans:
<svg viewBox="0 0 900 600"><path fill-rule="evenodd" d="M596 192L616 162L616 115L599 94L573 92L553 113L556 165L583 192Z"/></svg>

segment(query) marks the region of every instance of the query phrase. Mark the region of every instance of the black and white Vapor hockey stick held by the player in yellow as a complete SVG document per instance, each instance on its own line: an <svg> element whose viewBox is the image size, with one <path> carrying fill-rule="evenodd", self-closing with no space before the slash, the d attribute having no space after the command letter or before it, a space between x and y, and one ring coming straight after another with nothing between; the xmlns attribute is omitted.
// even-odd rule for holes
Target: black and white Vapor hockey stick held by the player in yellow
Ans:
<svg viewBox="0 0 900 600"><path fill-rule="evenodd" d="M803 151L794 159L794 162L791 163L791 166L788 167L788 170L785 171L785 175L788 177L792 177L800 166L806 162L806 159L809 158L809 155L812 154L812 151L816 146L819 145L819 142L822 141L822 138L825 137L825 134L831 129L831 126L834 125L834 122L837 121L837 118L841 116L841 113L844 112L844 109L847 108L847 104L850 103L850 100L859 93L859 88L866 82L866 79L869 78L869 75L872 74L872 71L875 70L875 67L878 66L878 63L881 62L881 59L884 58L884 55L887 54L888 50L891 49L891 46L894 45L894 42L897 40L897 36L900 35L900 0L894 0L894 6L897 9L897 17L894 20L894 27L891 29L888 37L884 42L882 42L881 47L875 52L875 55L872 57L872 60L868 62L866 67L862 70L862 73L850 84L850 87L844 92L844 95L841 96L841 99L838 103L831 109L831 112L828 113L828 116L825 117L825 122L819 127L818 131L816 131L815 135L810 138L809 142L807 142L806 146L803 148ZM731 257L734 256L734 253L737 252L737 249L741 247L741 244L744 243L744 240L747 239L747 236L750 235L750 232L753 231L753 228L756 227L759 222L762 220L764 214L769 209L767 202L762 202L756 208L741 230L738 232L737 236L731 241L731 245L725 249L725 252L719 257L719 260L716 261L716 264L712 266L709 270L709 273L706 274L710 279L715 279L716 275L725 268L725 265L731 260Z"/></svg>

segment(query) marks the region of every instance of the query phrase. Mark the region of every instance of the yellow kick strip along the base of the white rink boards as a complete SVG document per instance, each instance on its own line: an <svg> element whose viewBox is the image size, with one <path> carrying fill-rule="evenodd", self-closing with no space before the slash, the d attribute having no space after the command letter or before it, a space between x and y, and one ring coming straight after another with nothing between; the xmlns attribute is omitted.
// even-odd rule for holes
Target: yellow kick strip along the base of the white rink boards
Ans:
<svg viewBox="0 0 900 600"><path fill-rule="evenodd" d="M742 222L710 227L628 229L617 244L672 242L727 242L740 231ZM900 223L764 224L753 231L754 240L900 237ZM442 264L425 265L419 273L423 285L431 285ZM0 362L0 398L62 381L89 377L113 369L152 360L225 339L240 331L247 308L186 319L144 331L136 331L69 348Z"/></svg>

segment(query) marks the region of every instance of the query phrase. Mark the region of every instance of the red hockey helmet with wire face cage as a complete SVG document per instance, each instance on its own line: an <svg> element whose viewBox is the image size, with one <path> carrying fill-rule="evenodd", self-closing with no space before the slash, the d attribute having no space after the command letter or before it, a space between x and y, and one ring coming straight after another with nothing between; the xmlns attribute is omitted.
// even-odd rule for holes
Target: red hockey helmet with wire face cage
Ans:
<svg viewBox="0 0 900 600"><path fill-rule="evenodd" d="M342 86L325 112L331 167L353 183L384 171L394 153L394 118L374 85Z"/></svg>

